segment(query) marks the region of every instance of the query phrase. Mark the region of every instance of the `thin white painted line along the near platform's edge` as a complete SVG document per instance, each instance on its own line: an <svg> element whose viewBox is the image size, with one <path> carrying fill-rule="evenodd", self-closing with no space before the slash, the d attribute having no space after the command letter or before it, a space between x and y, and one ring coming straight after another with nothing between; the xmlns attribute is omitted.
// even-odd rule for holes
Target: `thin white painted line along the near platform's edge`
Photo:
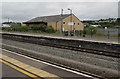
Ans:
<svg viewBox="0 0 120 79"><path fill-rule="evenodd" d="M1 49L1 48L0 48L0 49ZM59 67L59 66L56 66L56 65L47 63L47 62L43 62L43 61L40 61L40 60L31 58L31 57L28 57L28 56L25 56L25 55L18 54L18 53L16 53L16 52L12 52L12 51L9 51L9 50L6 50L6 49L2 49L2 50L7 51L7 52L12 53L12 54L16 54L16 55L21 56L21 57L24 57L24 58L28 58L28 59L31 59L31 60L34 60L34 61L37 61L37 62L46 64L46 65L50 65L50 66L53 66L53 67L56 67L56 68L59 68L59 69L62 69L62 70L66 70L66 71L69 71L69 72L72 72L72 73L75 73L75 74L78 74L78 75L83 75L83 76L85 76L85 77L94 78L94 77L92 77L92 76L90 76L90 75L86 75L86 74L83 74L83 73L80 73L80 72L77 72L77 71L73 71L73 70L69 70L69 69L66 69L66 68L62 68L62 67ZM94 79L95 79L95 78L94 78Z"/></svg>

